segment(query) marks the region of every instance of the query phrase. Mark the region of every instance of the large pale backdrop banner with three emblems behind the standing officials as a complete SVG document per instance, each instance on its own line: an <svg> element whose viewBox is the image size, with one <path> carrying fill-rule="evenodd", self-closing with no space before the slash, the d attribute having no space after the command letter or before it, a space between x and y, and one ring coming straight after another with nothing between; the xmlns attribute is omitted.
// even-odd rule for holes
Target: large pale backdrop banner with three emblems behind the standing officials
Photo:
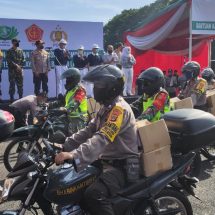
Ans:
<svg viewBox="0 0 215 215"><path fill-rule="evenodd" d="M24 96L33 94L33 76L31 70L30 54L36 49L35 41L43 40L46 50L50 51L52 70L49 72L49 97L56 95L56 82L54 71L53 50L58 47L58 42L65 39L67 49L71 55L75 54L80 45L85 48L85 54L89 54L94 43L103 49L103 23L102 22L73 22L51 20L24 20L24 19L0 19L0 49L2 49L2 94L3 99L8 99L9 82L6 51L11 47L11 40L18 38L20 48L25 53L26 64L24 67ZM68 66L72 66L72 60ZM15 95L17 98L17 94Z"/></svg>

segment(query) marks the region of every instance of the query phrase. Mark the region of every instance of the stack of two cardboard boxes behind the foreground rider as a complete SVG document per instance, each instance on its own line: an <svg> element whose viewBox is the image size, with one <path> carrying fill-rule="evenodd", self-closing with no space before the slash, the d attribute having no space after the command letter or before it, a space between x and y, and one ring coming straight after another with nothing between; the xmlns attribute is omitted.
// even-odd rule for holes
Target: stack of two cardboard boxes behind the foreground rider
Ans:
<svg viewBox="0 0 215 215"><path fill-rule="evenodd" d="M141 163L146 177L172 168L170 136L164 120L150 123L147 120L136 122L143 152Z"/></svg>

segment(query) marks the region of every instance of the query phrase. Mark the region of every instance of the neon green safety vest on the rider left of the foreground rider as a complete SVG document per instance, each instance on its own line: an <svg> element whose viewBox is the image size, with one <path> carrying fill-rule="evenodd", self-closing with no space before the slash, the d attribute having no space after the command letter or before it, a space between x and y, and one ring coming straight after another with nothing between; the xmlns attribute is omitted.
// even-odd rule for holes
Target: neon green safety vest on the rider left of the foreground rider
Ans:
<svg viewBox="0 0 215 215"><path fill-rule="evenodd" d="M70 109L70 103L72 103L73 101L73 97L76 93L76 91L80 88L80 86L75 87L74 89L70 90L67 94L66 94L66 98L65 98L65 108L67 108L68 110ZM79 107L73 111L70 112L69 114L70 117L79 117L79 116L87 116L87 98L85 98L79 105Z"/></svg>

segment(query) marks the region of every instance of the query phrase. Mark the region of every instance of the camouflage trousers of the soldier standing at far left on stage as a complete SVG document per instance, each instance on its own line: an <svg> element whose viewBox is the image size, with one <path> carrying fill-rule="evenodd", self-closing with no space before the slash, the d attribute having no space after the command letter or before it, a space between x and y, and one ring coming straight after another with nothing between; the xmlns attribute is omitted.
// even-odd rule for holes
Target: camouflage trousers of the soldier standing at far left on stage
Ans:
<svg viewBox="0 0 215 215"><path fill-rule="evenodd" d="M9 86L9 94L10 97L13 97L15 94L15 85L17 86L17 91L19 97L23 95L23 74L21 72L16 71L16 69L9 69L8 71L8 80L10 83Z"/></svg>

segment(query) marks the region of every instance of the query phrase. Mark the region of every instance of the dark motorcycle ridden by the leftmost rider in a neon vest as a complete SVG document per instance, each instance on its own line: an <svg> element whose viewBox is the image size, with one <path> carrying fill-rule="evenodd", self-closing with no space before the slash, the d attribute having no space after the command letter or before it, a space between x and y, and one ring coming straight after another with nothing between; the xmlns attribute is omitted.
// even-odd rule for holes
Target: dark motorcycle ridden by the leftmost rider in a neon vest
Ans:
<svg viewBox="0 0 215 215"><path fill-rule="evenodd" d="M12 140L5 149L3 161L5 168L11 171L18 154L25 150L29 154L41 155L43 148L41 138L48 138L56 143L64 143L68 136L67 112L60 109L48 110L42 107L33 119L33 125L18 128L13 131Z"/></svg>

